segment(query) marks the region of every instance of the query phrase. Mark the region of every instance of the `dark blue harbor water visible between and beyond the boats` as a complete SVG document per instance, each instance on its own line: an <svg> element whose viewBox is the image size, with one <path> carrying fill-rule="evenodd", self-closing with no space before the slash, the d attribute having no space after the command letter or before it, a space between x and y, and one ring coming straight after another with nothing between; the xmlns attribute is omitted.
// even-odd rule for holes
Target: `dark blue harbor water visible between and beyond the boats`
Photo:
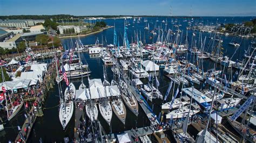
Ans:
<svg viewBox="0 0 256 143"><path fill-rule="evenodd" d="M152 17L152 18L147 18L148 22L150 23L150 29L152 30L152 28L156 26L156 19L159 20L159 22L157 23L157 27L158 26L160 27L162 25L162 27L165 28L165 25L162 24L161 21L166 20L166 18ZM218 18L217 17L204 17L204 18L200 18L200 19L194 19L194 22L201 22L203 20L204 24L216 23L217 19L218 19L219 23L241 23L246 20L252 19L252 17L218 17ZM151 36L150 31L144 30L144 27L146 25L143 22L144 18L142 18L142 22L140 22L139 24L138 23L133 24L132 20L133 19L127 19L127 21L131 24L130 26L128 26L129 29L127 30L127 34L129 35L130 43L131 43L131 41L134 41L134 32L137 33L137 31L140 34L140 37L142 40L145 37L145 40L147 43L153 42L152 40L150 40L150 36ZM173 21L174 20L176 20L176 19L173 19ZM185 33L186 33L185 28L187 26L187 23L183 22L183 20L185 20L185 19L177 19L177 20L178 20L178 24L182 25L182 26L180 26L180 30L183 31L183 34L184 34L183 39L185 39ZM115 25L116 26L118 39L119 39L120 45L122 45L122 43L123 43L122 38L123 38L123 32L124 32L124 19L116 19L116 20L106 19L105 22L107 23L107 25ZM167 22L168 22L168 27L172 29L173 26L172 26L172 24L170 24L171 19L168 18ZM134 27L132 27L132 26L134 26ZM175 28L173 30L175 30ZM192 32L193 31L188 31L189 39L191 39L191 37L192 37ZM203 33L202 35L204 38L205 36L207 36L207 37L210 36L210 33ZM107 44L112 44L113 43L113 28L107 29L101 33L90 35L88 37L82 37L80 39L84 45L88 45L88 44L95 44L95 41L97 38L101 42L102 37L103 37L104 42L106 40ZM198 39L198 33L196 35L196 38ZM156 42L157 36L154 37L153 39L154 39L154 42ZM228 42L230 42L233 39L233 37L221 35L221 39L223 39L223 41L224 41L223 42L224 55L228 55L229 57L231 57L235 51L235 48L232 46L229 46ZM241 42L241 46L235 53L232 60L234 60L234 61L236 59L242 60L242 55L244 54L245 49L248 48L248 45L250 44L252 39L241 39L241 38L234 38L234 39L238 42ZM73 43L75 43L76 38L73 38L72 40L73 40ZM206 44L208 43L208 40L209 39L207 38ZM70 38L62 39L62 43L63 43L63 46L68 48L71 45L71 40L70 40ZM205 49L206 49L206 47L205 47ZM92 78L101 78L103 80L102 60L96 55L90 56L87 53L81 54L81 58L82 58L83 62L89 63L89 68L92 71L90 78L91 79ZM47 61L47 62L49 62L49 61ZM204 61L205 69L213 68L213 66L214 66L214 63L211 60ZM217 66L217 68L220 69L219 66ZM107 70L107 78L109 81L111 81L113 78L113 73L111 71L111 67L107 67L106 70ZM168 88L170 80L167 79L165 76L163 76L163 70L160 70L159 72L157 72L157 75L158 75L158 80L160 82L159 90L161 91L161 93L163 95L165 95L165 92ZM147 79L144 79L142 81L144 83L146 83ZM80 81L77 80L77 81L72 81L72 82L75 83L76 88L78 89ZM84 82L86 85L88 85L87 79L84 79ZM175 86L175 88L177 88L177 87L178 87L178 85ZM179 88L181 88L181 87L179 87ZM65 88L63 88L63 90L65 90ZM170 92L171 95L169 96L169 100L171 100L171 97L172 97L172 90ZM58 97L58 89L56 87L50 91L50 94L49 94L48 98L46 99L46 104L45 104L46 109L44 110L44 116L41 118L37 118L37 121L36 121L35 126L33 127L33 132L31 134L29 142L38 142L40 138L42 138L43 141L47 141L47 142L63 141L64 137L70 137L70 139L73 138L73 127L75 126L75 119L73 118L73 120L70 121L68 128L66 128L66 130L63 130L62 126L60 125L59 118L58 118L58 107L55 107L58 104L59 104L59 97ZM149 103L149 104L151 106L153 106L154 113L156 113L156 115L158 115L160 112L161 101L156 99L155 101L153 101L153 103ZM100 113L98 116L98 120L100 121L104 130L107 133L109 133L111 129L112 129L112 132L114 133L114 132L129 130L132 127L134 128L136 126L142 127L143 124L144 125L150 124L149 120L145 116L145 113L143 112L143 110L140 107L139 107L138 118L135 115L133 115L133 113L131 113L131 111L129 109L126 108L126 111L127 111L127 116L126 116L125 126L119 121L119 119L114 114L113 114L112 121L111 121L111 128L106 124L105 120L100 115ZM86 120L88 120L88 119L86 119ZM8 140L14 141L16 138L16 135L18 133L17 126L18 125L22 126L23 121L24 121L24 113L21 112L10 123L6 124L5 131L0 132L0 135L3 135L3 136L0 136L1 137L0 142L7 142Z"/></svg>

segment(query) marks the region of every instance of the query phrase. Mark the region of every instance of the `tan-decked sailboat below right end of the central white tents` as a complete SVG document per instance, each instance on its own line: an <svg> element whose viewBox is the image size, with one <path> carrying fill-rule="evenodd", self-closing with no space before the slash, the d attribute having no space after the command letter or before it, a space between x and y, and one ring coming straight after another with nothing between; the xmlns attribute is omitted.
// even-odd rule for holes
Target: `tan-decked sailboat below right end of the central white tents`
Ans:
<svg viewBox="0 0 256 143"><path fill-rule="evenodd" d="M125 118L126 118L126 109L124 106L124 103L119 99L113 99L111 102L112 109L114 111L114 114L117 116L117 118L122 121L123 124L125 124Z"/></svg>

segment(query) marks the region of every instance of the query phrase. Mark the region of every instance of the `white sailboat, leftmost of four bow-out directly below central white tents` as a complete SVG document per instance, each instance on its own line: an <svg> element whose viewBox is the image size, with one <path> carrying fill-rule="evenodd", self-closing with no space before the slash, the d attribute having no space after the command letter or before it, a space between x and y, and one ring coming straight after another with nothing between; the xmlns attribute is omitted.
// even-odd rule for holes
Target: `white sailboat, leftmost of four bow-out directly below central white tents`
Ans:
<svg viewBox="0 0 256 143"><path fill-rule="evenodd" d="M86 115L90 118L92 122L98 119L98 109L96 103L85 104Z"/></svg>

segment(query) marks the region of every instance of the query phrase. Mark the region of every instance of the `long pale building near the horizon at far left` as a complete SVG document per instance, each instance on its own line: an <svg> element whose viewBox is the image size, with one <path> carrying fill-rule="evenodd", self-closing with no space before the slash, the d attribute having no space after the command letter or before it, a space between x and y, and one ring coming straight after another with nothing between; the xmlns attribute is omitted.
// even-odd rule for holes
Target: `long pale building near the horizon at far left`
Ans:
<svg viewBox="0 0 256 143"><path fill-rule="evenodd" d="M8 27L29 27L35 26L37 23L44 23L44 20L33 20L33 19L9 19L1 20L0 26Z"/></svg>

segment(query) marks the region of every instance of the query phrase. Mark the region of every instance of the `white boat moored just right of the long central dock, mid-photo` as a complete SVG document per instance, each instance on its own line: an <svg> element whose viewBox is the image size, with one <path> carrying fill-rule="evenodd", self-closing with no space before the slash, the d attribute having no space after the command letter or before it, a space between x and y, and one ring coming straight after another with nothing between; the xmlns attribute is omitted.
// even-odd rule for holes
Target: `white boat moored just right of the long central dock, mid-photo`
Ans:
<svg viewBox="0 0 256 143"><path fill-rule="evenodd" d="M145 84L143 88L140 89L140 91L151 102L152 102L152 99L154 98L163 99L163 95L161 94L161 92L151 84Z"/></svg>

